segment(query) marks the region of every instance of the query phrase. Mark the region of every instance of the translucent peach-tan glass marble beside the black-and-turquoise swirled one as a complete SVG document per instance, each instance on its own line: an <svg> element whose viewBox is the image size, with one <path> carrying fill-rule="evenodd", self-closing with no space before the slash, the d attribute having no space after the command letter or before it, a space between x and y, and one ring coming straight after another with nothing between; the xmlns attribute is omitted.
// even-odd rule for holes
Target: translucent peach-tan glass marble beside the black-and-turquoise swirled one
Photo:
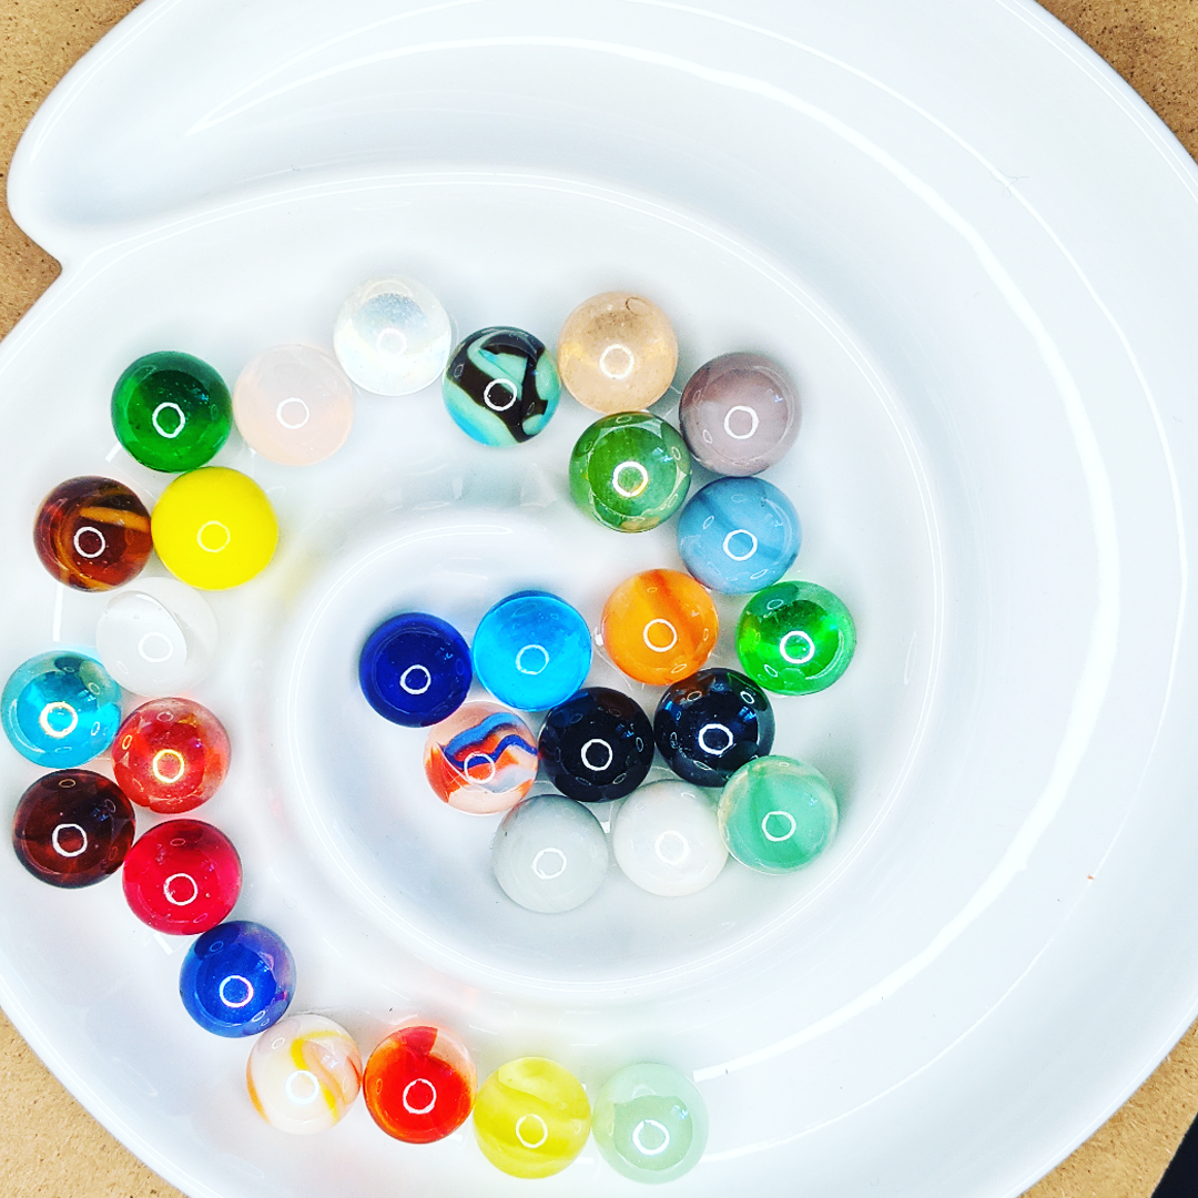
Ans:
<svg viewBox="0 0 1198 1198"><path fill-rule="evenodd" d="M652 300L605 291L562 326L557 364L567 391L597 412L636 412L659 400L678 369L678 339Z"/></svg>

